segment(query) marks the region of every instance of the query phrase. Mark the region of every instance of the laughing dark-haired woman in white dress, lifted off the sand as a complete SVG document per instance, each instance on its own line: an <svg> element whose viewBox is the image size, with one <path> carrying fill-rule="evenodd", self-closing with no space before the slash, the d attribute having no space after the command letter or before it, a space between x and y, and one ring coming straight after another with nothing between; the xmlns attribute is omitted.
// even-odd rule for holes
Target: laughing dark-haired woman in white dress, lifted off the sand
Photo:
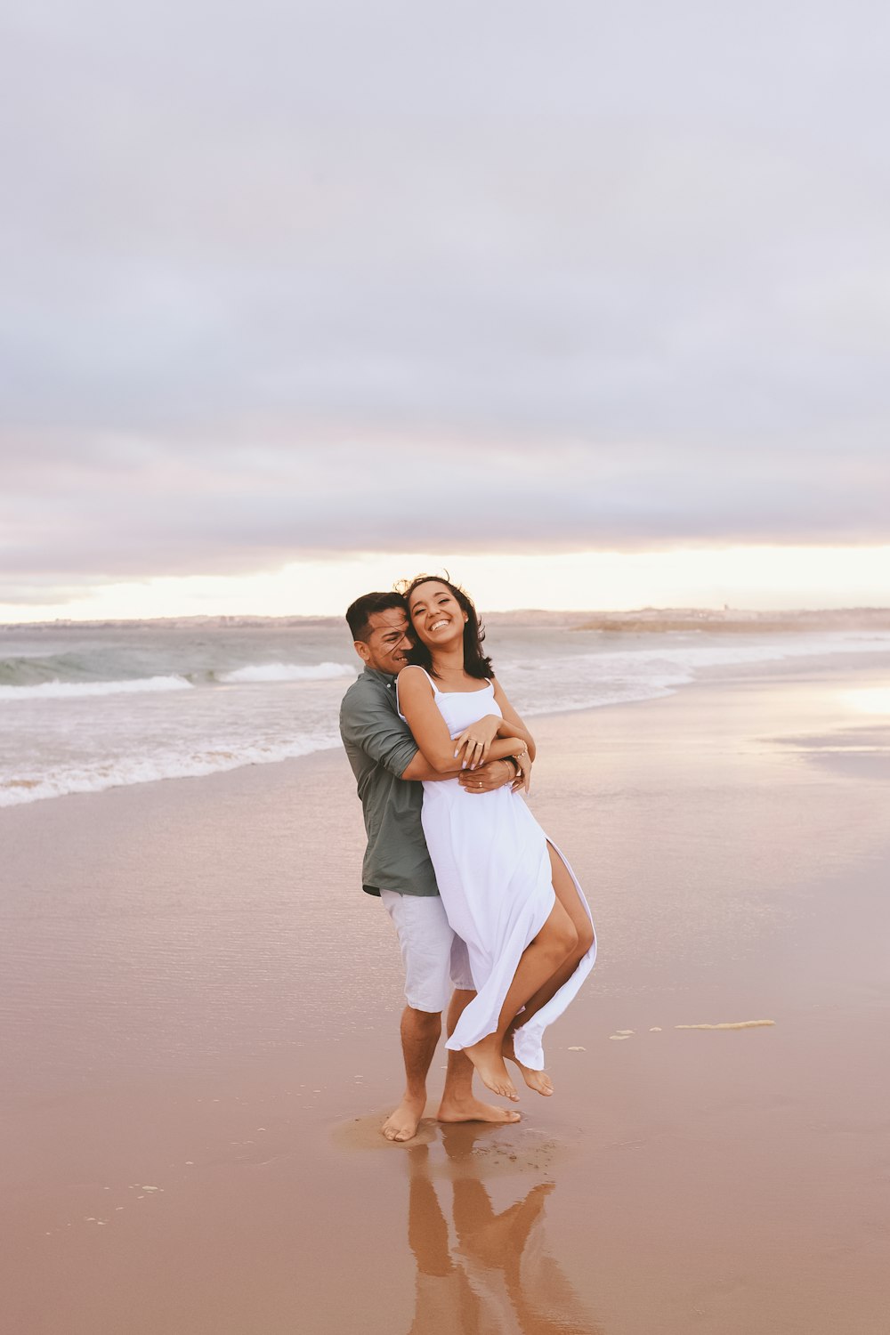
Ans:
<svg viewBox="0 0 890 1335"><path fill-rule="evenodd" d="M404 593L414 650L399 673L399 710L442 773L511 756L518 780L467 793L456 778L423 785L423 832L448 921L467 943L476 997L447 1047L464 1049L488 1089L518 1099L504 1057L552 1093L542 1035L594 964L594 928L575 876L519 790L535 744L482 651L476 610L447 579L419 575ZM522 1013L520 1013L522 1012Z"/></svg>

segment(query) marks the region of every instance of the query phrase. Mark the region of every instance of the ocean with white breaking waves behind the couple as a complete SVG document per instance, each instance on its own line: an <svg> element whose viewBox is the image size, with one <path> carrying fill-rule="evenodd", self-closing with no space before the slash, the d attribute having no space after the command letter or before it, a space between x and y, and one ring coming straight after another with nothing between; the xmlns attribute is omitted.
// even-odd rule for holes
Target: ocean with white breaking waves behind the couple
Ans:
<svg viewBox="0 0 890 1335"><path fill-rule="evenodd" d="M717 669L890 649L890 633L610 634L494 623L522 714L652 700ZM340 618L0 630L0 806L197 777L339 745L360 663Z"/></svg>

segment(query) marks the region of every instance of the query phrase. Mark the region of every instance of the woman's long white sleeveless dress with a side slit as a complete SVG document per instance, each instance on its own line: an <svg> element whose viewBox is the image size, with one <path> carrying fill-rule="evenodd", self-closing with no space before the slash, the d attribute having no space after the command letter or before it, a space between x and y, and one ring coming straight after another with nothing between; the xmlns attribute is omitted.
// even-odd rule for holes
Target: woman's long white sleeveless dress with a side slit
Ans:
<svg viewBox="0 0 890 1335"><path fill-rule="evenodd" d="M452 737L486 714L500 714L491 682L480 690L443 692L427 674ZM423 833L448 922L467 943L476 996L446 1044L454 1051L479 1043L498 1028L500 1009L522 952L540 932L555 902L547 836L510 785L467 793L456 778L424 782ZM575 873L578 897L590 906ZM567 983L531 1020L516 1029L514 1051L523 1065L542 1071L543 1032L562 1015L594 967L596 940Z"/></svg>

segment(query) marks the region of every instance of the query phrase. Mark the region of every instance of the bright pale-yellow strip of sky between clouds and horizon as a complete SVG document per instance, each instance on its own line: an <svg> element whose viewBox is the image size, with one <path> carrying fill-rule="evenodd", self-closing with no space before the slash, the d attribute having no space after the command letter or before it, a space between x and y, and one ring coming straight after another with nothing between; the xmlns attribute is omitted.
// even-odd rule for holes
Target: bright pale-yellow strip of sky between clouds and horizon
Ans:
<svg viewBox="0 0 890 1335"><path fill-rule="evenodd" d="M109 582L47 603L0 603L5 621L339 615L358 593L448 570L482 609L882 606L890 547L686 547L528 554L359 553L250 575Z"/></svg>

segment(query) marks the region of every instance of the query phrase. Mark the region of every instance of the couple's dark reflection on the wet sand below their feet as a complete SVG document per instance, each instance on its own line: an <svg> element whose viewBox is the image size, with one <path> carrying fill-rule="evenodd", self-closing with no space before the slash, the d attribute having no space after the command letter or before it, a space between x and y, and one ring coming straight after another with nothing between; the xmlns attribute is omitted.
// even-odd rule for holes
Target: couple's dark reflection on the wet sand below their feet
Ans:
<svg viewBox="0 0 890 1335"><path fill-rule="evenodd" d="M451 1192L451 1227L430 1144L407 1151L408 1246L418 1267L408 1335L599 1335L547 1247L551 1173L526 1163L522 1195L496 1212L482 1181L486 1160L472 1153L479 1135L486 1132L472 1125L440 1128L448 1165L440 1191ZM440 1152L435 1141L432 1152Z"/></svg>

